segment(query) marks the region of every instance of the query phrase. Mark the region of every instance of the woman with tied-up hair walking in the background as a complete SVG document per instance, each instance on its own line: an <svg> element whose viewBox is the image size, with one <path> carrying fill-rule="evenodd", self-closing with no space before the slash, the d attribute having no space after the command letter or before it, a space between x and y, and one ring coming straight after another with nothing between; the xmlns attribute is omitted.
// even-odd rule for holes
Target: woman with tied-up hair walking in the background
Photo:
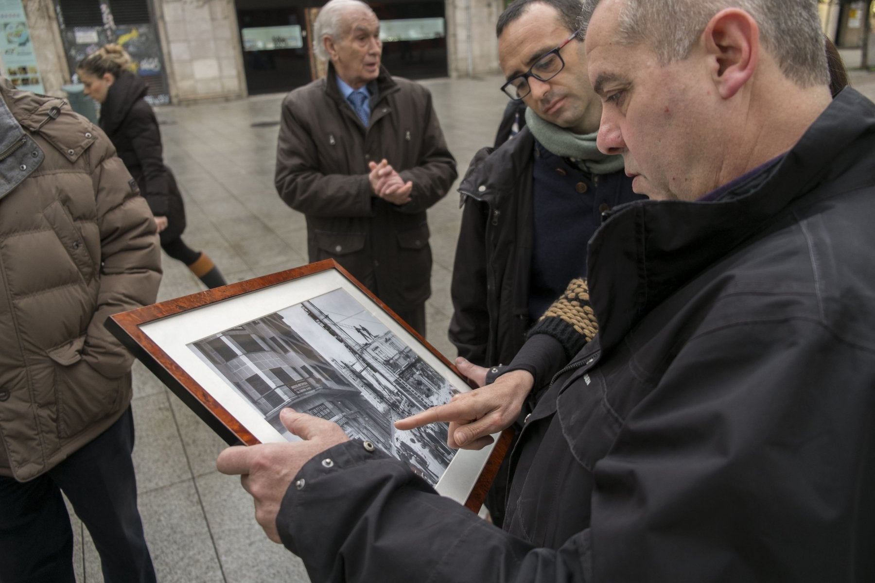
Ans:
<svg viewBox="0 0 875 583"><path fill-rule="evenodd" d="M130 63L130 55L120 45L104 45L82 59L77 73L85 94L101 104L100 126L149 203L161 248L185 263L207 288L223 286L225 280L207 253L194 251L182 240L186 209L162 157L158 120L144 100L146 84L128 70Z"/></svg>

